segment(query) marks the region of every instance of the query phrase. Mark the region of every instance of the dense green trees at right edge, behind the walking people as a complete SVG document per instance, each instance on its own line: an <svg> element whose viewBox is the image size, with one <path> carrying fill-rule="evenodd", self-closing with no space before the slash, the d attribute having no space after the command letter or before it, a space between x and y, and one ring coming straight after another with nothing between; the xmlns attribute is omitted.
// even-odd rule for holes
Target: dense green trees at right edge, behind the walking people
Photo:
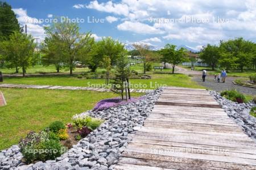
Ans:
<svg viewBox="0 0 256 170"><path fill-rule="evenodd" d="M256 69L256 44L242 37L228 41L220 41L217 45L206 45L200 52L200 58L212 70L222 67L226 70Z"/></svg>

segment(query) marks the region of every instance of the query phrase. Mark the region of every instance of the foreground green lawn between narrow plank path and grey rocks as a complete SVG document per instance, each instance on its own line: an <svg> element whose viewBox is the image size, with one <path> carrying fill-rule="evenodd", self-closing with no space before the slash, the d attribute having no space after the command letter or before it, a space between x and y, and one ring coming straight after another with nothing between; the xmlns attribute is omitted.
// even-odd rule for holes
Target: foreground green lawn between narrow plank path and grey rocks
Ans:
<svg viewBox="0 0 256 170"><path fill-rule="evenodd" d="M0 150L18 143L28 131L42 130L56 120L71 122L74 114L92 109L99 100L117 96L95 91L19 88L0 88L0 91L7 102L0 107Z"/></svg>

